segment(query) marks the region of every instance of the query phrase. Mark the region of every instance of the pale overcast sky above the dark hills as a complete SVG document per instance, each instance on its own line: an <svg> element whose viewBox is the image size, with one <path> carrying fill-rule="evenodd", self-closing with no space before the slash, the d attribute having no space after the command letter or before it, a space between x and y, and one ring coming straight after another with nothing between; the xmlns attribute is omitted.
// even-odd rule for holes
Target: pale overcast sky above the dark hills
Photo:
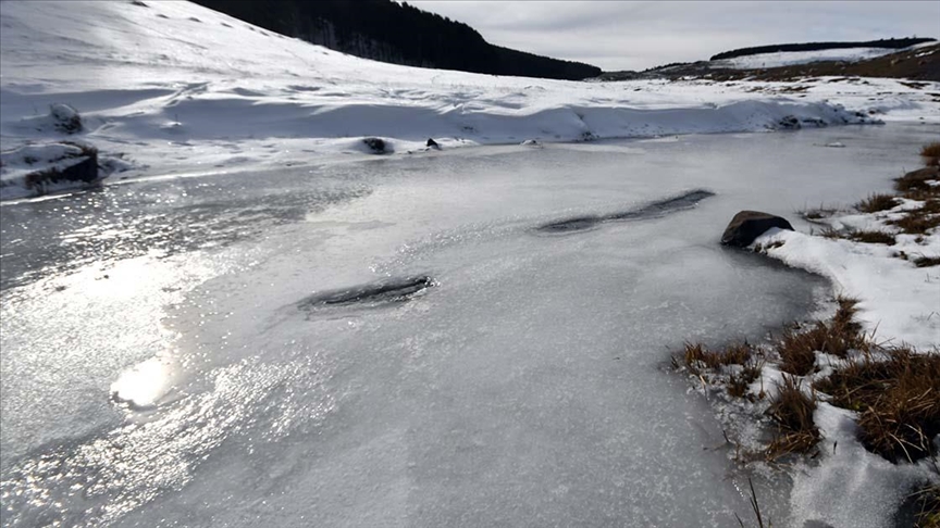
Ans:
<svg viewBox="0 0 940 528"><path fill-rule="evenodd" d="M605 71L645 70L770 43L940 38L940 0L408 3L469 24L488 42Z"/></svg>

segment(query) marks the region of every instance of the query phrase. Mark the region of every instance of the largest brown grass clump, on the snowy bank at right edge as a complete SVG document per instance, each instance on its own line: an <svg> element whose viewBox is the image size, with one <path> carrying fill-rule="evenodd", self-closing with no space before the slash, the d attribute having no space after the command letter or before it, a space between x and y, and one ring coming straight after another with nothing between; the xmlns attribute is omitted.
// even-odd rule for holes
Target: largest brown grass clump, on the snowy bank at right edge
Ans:
<svg viewBox="0 0 940 528"><path fill-rule="evenodd" d="M932 453L940 433L940 355L907 348L882 361L866 356L816 382L832 404L861 413L865 447L885 458L917 461Z"/></svg>

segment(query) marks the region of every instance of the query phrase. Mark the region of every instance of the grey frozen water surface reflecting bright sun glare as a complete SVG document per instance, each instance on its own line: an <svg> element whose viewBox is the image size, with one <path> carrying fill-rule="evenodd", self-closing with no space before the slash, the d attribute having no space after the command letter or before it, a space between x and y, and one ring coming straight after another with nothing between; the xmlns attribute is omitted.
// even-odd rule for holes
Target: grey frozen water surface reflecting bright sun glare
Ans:
<svg viewBox="0 0 940 528"><path fill-rule="evenodd" d="M797 210L888 190L938 133L479 148L3 204L2 521L734 526L747 475L669 354L760 339L829 288L721 230L742 209L808 230ZM787 526L786 476L755 485Z"/></svg>

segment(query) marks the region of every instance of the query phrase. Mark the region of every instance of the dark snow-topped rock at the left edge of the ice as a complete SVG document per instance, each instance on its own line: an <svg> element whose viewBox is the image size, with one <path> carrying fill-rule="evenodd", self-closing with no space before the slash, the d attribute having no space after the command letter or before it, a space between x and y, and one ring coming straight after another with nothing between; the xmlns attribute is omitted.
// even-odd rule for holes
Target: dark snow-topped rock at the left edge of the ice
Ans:
<svg viewBox="0 0 940 528"><path fill-rule="evenodd" d="M98 150L78 143L27 144L2 154L0 186L37 194L69 183L98 179Z"/></svg>

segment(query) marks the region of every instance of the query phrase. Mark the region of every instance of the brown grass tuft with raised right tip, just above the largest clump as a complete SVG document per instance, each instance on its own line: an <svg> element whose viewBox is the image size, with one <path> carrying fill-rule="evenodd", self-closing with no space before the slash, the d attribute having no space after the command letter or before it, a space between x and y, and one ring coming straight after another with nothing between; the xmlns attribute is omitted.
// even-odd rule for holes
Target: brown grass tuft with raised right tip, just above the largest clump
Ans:
<svg viewBox="0 0 940 528"><path fill-rule="evenodd" d="M796 376L811 374L816 366L816 352L846 357L850 350L868 350L870 341L855 320L858 301L838 298L839 307L828 324L816 322L808 330L787 330L777 344L780 369Z"/></svg>

